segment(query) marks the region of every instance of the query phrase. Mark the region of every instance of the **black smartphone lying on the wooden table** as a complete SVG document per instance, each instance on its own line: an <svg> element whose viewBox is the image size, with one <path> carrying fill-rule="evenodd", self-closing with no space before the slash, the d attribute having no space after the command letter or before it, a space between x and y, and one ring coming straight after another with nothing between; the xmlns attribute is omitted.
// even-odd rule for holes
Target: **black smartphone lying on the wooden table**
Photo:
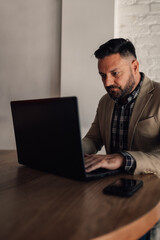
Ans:
<svg viewBox="0 0 160 240"><path fill-rule="evenodd" d="M103 189L104 194L122 197L132 196L143 186L143 181L136 179L120 178Z"/></svg>

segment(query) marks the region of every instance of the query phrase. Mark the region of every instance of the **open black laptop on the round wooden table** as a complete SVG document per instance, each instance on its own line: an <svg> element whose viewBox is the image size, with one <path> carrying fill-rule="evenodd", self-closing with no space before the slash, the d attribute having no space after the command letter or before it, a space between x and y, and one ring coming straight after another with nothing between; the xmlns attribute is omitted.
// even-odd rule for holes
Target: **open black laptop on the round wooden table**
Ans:
<svg viewBox="0 0 160 240"><path fill-rule="evenodd" d="M78 180L118 173L86 173L76 97L12 101L20 164Z"/></svg>

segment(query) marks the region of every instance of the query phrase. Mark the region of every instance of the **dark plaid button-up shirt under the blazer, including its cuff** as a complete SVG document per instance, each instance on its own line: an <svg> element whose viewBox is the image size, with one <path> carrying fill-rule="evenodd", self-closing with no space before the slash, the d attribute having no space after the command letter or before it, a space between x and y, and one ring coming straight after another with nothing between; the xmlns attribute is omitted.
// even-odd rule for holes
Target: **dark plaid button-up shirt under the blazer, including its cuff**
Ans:
<svg viewBox="0 0 160 240"><path fill-rule="evenodd" d="M124 166L125 171L133 173L136 168L135 159L126 152L128 148L128 127L132 115L136 98L139 94L144 74L141 73L141 80L132 93L126 99L126 103L115 102L112 128L111 128L111 151L112 153L120 152L126 159Z"/></svg>

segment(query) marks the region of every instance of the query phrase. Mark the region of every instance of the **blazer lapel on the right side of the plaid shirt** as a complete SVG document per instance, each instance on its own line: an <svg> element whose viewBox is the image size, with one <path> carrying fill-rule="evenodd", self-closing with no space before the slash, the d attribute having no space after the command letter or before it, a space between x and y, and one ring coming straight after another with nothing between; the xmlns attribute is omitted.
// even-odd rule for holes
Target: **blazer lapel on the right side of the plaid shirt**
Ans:
<svg viewBox="0 0 160 240"><path fill-rule="evenodd" d="M133 136L137 127L137 123L152 97L151 91L153 89L154 87L151 80L145 76L130 119L128 130L128 150L131 150Z"/></svg>

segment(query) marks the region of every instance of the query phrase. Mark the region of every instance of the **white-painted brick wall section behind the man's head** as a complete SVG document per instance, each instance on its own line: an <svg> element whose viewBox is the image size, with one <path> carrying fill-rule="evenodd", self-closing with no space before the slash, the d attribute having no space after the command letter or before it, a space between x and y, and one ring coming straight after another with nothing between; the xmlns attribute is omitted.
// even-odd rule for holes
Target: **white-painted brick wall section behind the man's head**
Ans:
<svg viewBox="0 0 160 240"><path fill-rule="evenodd" d="M140 71L160 82L160 0L115 0L115 37L136 47Z"/></svg>

